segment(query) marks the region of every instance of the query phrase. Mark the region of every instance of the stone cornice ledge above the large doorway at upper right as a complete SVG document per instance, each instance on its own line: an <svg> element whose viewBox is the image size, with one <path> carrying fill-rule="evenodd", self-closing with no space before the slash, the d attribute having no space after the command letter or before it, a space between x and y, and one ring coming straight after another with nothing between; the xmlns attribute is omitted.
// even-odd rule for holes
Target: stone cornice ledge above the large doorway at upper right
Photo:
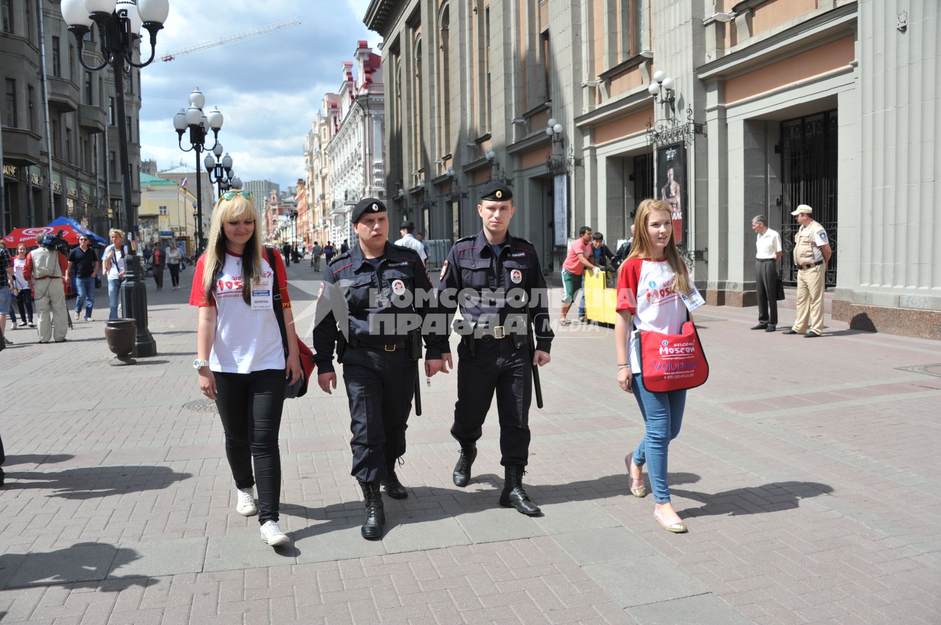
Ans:
<svg viewBox="0 0 941 625"><path fill-rule="evenodd" d="M696 68L700 80L726 79L758 70L795 51L805 52L808 43L824 45L852 34L857 19L856 3L843 5L761 39L740 50L733 50Z"/></svg>

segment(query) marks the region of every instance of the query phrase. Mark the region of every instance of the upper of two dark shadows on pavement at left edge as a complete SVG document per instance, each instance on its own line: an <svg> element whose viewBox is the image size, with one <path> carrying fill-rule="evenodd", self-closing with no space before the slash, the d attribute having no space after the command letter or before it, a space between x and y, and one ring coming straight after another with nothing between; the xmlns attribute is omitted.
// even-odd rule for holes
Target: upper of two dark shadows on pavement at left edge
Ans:
<svg viewBox="0 0 941 625"><path fill-rule="evenodd" d="M159 491L179 482L189 473L176 473L166 466L97 466L64 471L8 471L7 491L49 489L50 497L95 499L128 492Z"/></svg>

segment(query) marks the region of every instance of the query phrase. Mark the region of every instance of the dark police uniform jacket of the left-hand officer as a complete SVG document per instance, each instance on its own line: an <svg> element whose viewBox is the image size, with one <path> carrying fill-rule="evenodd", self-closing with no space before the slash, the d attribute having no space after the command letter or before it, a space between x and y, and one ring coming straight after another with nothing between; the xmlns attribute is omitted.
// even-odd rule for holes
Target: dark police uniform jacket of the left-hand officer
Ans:
<svg viewBox="0 0 941 625"><path fill-rule="evenodd" d="M404 341L408 323L411 327L421 325L415 321L424 321L437 312L422 260L414 250L391 242L386 242L378 267L362 255L355 243L327 264L321 287L313 328L313 361L320 373L333 371L338 321L347 324L351 347L381 347ZM329 312L322 317L323 306ZM343 315L346 319L339 319ZM425 330L429 327L431 332L423 331L425 358L437 360L441 353L451 352L447 328L443 318L437 326L429 323Z"/></svg>

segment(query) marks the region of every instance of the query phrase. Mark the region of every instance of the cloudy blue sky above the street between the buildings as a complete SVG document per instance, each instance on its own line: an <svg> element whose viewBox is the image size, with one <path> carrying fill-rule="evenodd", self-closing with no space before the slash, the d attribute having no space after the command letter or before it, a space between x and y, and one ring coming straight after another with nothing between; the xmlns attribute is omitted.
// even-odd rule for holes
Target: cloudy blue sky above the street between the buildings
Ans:
<svg viewBox="0 0 941 625"><path fill-rule="evenodd" d="M219 142L242 180L272 180L283 189L304 177L304 138L328 91L341 84L341 63L359 39L379 37L362 23L369 0L170 0L157 56L299 17L299 25L242 39L141 70L141 153L160 169L195 165L177 145L173 116L188 107L193 87L225 121ZM183 143L186 135L183 136Z"/></svg>

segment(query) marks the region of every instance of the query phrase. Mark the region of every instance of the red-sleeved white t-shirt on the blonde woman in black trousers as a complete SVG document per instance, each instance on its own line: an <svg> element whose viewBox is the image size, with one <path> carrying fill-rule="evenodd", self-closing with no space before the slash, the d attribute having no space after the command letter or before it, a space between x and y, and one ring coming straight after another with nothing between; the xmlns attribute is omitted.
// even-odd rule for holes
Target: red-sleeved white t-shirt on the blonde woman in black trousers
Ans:
<svg viewBox="0 0 941 625"><path fill-rule="evenodd" d="M226 262L215 285L212 302L203 300L202 268L205 255L199 257L190 292L189 303L194 306L215 306L215 340L209 354L209 368L222 373L251 373L264 369L283 369L284 347L278 318L275 316L274 273L268 264L267 254L262 258L263 284L256 290L267 289L267 297L261 298L252 308L242 297L242 257L226 254ZM278 278L281 286L281 306L291 307L287 293L287 276L280 254L275 252ZM256 299L256 298L253 298Z"/></svg>

